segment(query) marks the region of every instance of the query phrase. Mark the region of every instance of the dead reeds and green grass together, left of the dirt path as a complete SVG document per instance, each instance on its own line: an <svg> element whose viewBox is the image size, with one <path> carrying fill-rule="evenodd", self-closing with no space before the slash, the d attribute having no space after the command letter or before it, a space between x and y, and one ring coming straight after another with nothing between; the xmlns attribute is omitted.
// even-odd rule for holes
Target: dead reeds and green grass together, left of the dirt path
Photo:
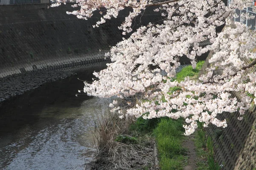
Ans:
<svg viewBox="0 0 256 170"><path fill-rule="evenodd" d="M107 114L93 131L98 154L90 170L183 170L190 164L183 119Z"/></svg>

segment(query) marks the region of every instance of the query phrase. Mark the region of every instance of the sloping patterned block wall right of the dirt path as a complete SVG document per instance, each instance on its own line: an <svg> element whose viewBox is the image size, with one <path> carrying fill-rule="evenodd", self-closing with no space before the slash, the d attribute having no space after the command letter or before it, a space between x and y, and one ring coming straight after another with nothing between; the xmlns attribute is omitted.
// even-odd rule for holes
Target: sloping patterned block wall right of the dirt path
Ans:
<svg viewBox="0 0 256 170"><path fill-rule="evenodd" d="M204 63L201 74L210 67L209 58L212 57L211 51ZM250 62L243 59L245 63ZM253 71L256 71L254 68ZM216 71L215 74L221 74ZM235 93L239 100L239 96ZM207 128L207 134L212 137L215 143L215 159L218 164L224 165L224 170L253 170L256 168L256 105L252 104L250 110L239 121L239 112L222 113L219 119L227 120L227 127L220 128L210 125Z"/></svg>

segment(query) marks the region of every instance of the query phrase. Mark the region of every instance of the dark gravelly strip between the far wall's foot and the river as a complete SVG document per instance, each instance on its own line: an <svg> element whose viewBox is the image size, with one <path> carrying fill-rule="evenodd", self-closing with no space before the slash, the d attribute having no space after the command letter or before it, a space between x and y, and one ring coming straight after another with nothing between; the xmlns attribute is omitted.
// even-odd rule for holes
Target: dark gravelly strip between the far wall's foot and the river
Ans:
<svg viewBox="0 0 256 170"><path fill-rule="evenodd" d="M45 69L35 69L32 71L12 74L10 76L0 78L0 105L1 102L5 101L6 99L35 89L46 82L54 82L64 79L80 71L89 71L92 74L93 71L99 71L105 68L106 63L108 62L110 61L105 60L102 62L90 62L90 64L86 65L77 65L69 68L49 71Z"/></svg>

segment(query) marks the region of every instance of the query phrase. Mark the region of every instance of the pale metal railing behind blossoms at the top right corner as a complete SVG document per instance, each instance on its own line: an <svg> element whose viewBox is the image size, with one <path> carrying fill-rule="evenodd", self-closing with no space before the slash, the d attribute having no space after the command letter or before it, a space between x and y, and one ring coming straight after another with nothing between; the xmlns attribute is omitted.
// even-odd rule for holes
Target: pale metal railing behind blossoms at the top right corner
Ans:
<svg viewBox="0 0 256 170"><path fill-rule="evenodd" d="M229 5L231 3L232 0L228 0L227 1L227 4ZM255 5L255 2L252 2L252 6ZM249 13L250 15L253 15L254 18L253 19L250 19L250 20L244 20L242 21L241 20L241 14L243 13ZM237 18L233 18L234 21L236 22L240 22L240 23L244 23L246 26L251 26L251 29L252 30L255 30L255 26L256 26L256 13L253 12L253 8L251 7L247 7L247 8L244 8L243 10L239 10L239 9L236 9L236 14L239 16Z"/></svg>

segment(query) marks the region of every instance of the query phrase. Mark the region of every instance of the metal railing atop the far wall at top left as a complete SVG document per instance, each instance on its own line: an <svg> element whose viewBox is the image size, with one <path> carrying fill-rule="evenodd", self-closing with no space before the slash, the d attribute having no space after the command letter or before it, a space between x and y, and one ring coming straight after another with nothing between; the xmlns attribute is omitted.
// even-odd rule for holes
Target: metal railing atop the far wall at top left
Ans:
<svg viewBox="0 0 256 170"><path fill-rule="evenodd" d="M33 3L55 3L56 0L0 0L0 5L13 4L33 4ZM73 0L68 0L67 3L73 3Z"/></svg>

